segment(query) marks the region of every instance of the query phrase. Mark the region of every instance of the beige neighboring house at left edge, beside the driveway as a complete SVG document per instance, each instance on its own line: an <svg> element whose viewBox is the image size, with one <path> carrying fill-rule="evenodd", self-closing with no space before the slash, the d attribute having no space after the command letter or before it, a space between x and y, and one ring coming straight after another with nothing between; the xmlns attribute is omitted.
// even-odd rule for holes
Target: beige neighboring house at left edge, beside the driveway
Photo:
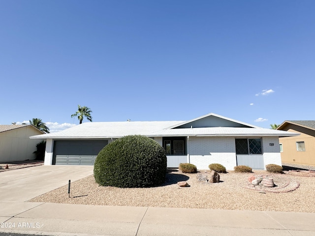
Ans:
<svg viewBox="0 0 315 236"><path fill-rule="evenodd" d="M0 162L33 160L38 140L30 136L45 134L31 124L0 125Z"/></svg>

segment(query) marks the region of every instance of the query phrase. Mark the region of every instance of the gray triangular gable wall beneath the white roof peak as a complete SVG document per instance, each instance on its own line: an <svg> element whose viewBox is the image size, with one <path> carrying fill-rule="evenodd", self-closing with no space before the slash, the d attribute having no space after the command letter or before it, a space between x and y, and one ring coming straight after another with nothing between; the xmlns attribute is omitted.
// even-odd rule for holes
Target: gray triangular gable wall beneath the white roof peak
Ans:
<svg viewBox="0 0 315 236"><path fill-rule="evenodd" d="M231 120L215 117L215 116L208 116L204 118L200 118L189 123L180 125L175 127L174 129L179 128L203 128L203 127L241 127L241 128L252 128L251 126L247 126L244 124L240 124Z"/></svg>

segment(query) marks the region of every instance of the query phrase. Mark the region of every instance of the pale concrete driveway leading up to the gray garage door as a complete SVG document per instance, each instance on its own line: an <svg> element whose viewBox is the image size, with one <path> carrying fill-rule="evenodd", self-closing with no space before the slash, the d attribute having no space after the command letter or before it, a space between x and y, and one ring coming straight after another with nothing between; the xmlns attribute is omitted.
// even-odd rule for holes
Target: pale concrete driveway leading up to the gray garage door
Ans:
<svg viewBox="0 0 315 236"><path fill-rule="evenodd" d="M25 202L93 175L93 166L34 166L0 172L0 201Z"/></svg>

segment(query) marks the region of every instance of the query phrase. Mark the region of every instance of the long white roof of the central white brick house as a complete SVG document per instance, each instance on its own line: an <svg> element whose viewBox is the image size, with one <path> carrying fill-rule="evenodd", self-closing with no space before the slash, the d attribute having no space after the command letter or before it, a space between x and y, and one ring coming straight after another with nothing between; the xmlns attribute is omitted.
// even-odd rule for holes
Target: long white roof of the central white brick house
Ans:
<svg viewBox="0 0 315 236"><path fill-rule="evenodd" d="M210 118L210 119L209 119ZM211 120L211 118L214 118ZM217 118L227 121L228 125L236 124L236 127L214 127ZM209 127L176 128L183 124L193 123L198 120L204 124L205 119ZM213 122L212 122L213 121ZM212 122L212 123L211 123ZM242 127L237 127L241 124ZM121 121L121 122L86 122L65 129L57 133L49 133L31 136L31 139L100 139L120 138L126 135L144 135L149 137L167 136L297 136L299 134L282 130L265 129L241 121L225 118L213 113L194 118L189 121Z"/></svg>

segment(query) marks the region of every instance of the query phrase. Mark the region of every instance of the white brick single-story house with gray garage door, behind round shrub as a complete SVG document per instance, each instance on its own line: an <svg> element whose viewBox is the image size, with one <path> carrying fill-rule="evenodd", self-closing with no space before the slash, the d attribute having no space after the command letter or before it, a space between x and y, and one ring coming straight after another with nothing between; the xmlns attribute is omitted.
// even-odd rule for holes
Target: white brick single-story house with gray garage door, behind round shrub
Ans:
<svg viewBox="0 0 315 236"><path fill-rule="evenodd" d="M167 167L192 163L199 170L220 163L227 170L237 165L265 169L281 165L280 136L295 136L264 129L216 114L189 121L88 122L60 131L30 137L46 139L45 165L93 165L100 149L126 135L144 135L166 150Z"/></svg>

